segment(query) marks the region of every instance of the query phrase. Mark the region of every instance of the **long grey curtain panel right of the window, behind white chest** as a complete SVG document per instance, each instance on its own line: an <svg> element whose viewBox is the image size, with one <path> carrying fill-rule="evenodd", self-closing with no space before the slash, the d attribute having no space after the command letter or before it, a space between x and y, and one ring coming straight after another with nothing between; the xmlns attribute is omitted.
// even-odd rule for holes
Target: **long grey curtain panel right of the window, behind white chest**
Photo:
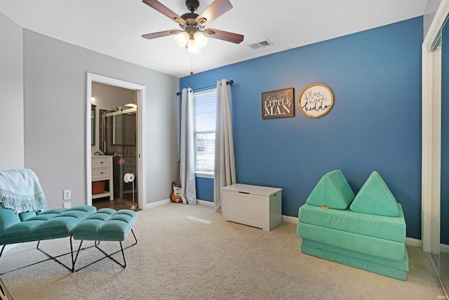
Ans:
<svg viewBox="0 0 449 300"><path fill-rule="evenodd" d="M215 171L213 202L221 211L221 188L236 182L234 140L232 137L231 86L226 79L217 81L217 118L215 126Z"/></svg>

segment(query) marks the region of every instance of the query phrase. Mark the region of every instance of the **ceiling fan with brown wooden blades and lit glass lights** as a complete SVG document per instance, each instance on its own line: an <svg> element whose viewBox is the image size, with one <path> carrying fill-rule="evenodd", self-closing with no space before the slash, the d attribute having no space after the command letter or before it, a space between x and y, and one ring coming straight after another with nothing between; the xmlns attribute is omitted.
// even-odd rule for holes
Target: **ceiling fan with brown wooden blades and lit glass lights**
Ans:
<svg viewBox="0 0 449 300"><path fill-rule="evenodd" d="M242 34L205 28L210 22L232 8L232 4L229 0L215 0L200 14L194 13L196 8L199 7L199 0L186 0L185 4L190 13L185 13L181 16L177 15L173 11L170 11L169 8L161 4L159 1L142 0L142 2L151 8L154 8L156 11L159 11L159 13L166 15L166 17L171 20L174 20L181 27L181 30L166 30L163 32L143 34L142 37L145 39L156 39L158 37L166 37L171 34L177 34L175 37L176 44L182 47L186 46L187 50L192 53L196 52L197 48L202 48L206 45L207 39L205 39L204 36L211 37L213 39L221 39L223 41L230 41L235 44L239 44L243 41Z"/></svg>

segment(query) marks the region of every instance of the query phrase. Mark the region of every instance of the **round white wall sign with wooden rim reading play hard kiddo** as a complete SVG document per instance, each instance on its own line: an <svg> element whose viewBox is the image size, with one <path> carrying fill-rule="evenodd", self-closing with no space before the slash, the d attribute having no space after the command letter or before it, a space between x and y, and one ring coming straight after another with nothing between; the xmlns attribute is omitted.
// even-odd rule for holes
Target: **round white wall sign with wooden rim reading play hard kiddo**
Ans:
<svg viewBox="0 0 449 300"><path fill-rule="evenodd" d="M326 115L334 104L332 91L324 84L311 84L302 91L298 105L304 115L311 118Z"/></svg>

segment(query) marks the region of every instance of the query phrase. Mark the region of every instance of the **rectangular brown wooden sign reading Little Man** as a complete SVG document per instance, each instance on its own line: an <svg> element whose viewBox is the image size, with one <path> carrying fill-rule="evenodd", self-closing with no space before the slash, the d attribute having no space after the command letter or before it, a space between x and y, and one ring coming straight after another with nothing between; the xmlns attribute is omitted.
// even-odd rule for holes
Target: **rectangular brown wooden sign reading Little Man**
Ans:
<svg viewBox="0 0 449 300"><path fill-rule="evenodd" d="M262 93L262 119L295 117L293 88Z"/></svg>

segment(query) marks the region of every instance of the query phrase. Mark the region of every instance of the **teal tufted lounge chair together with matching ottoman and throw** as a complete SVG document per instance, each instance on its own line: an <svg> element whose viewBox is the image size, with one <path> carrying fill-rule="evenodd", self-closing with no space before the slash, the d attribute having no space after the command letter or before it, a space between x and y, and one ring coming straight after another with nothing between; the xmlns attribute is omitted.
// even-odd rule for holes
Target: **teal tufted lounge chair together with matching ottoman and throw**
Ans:
<svg viewBox="0 0 449 300"><path fill-rule="evenodd" d="M36 249L46 254L49 259L53 259L75 272L76 259L80 250L82 250L81 244L84 240L92 240L95 241L95 244L90 247L95 247L105 254L102 259L108 257L125 268L126 261L123 249L134 246L138 242L133 232L136 221L137 214L135 211L128 209L119 211L100 209L97 211L93 206L80 205L70 209L47 210L46 197L43 195L39 179L34 171L30 169L0 171L0 245L2 246L0 257L8 244L36 241L38 242ZM128 233L133 233L135 241L130 246L123 247L122 242L126 239ZM39 248L39 243L42 240L62 237L69 237L70 252L53 256ZM72 239L81 240L76 252L73 249ZM120 250L112 254L121 252L123 263L114 259L112 254L108 254L101 249L99 247L100 241L119 242ZM76 253L76 256L74 256L74 253ZM58 260L60 256L68 254L72 256L71 266L66 266ZM95 262L97 261L93 263ZM91 266L93 263L89 263L87 266ZM21 268L25 267L22 266ZM83 268L86 268L86 266L83 266ZM78 270L81 270L81 268Z"/></svg>

